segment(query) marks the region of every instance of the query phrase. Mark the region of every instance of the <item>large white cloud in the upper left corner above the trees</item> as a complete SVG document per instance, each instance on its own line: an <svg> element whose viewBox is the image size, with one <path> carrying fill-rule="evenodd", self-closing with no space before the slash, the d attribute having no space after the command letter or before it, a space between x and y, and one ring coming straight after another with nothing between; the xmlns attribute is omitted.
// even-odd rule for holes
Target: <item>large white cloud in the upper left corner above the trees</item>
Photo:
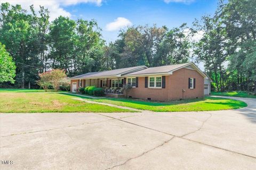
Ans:
<svg viewBox="0 0 256 170"><path fill-rule="evenodd" d="M76 5L78 3L92 3L97 6L100 6L102 3L102 0L81 0L81 1L70 1L70 0L52 0L52 1L26 1L26 0L1 0L1 3L8 2L11 5L20 4L22 8L24 8L27 11L30 11L29 6L34 4L35 11L39 11L40 5L44 6L50 11L50 21L54 20L55 18L58 18L58 16L68 16L70 17L71 14L64 10L61 6L70 6L70 5Z"/></svg>

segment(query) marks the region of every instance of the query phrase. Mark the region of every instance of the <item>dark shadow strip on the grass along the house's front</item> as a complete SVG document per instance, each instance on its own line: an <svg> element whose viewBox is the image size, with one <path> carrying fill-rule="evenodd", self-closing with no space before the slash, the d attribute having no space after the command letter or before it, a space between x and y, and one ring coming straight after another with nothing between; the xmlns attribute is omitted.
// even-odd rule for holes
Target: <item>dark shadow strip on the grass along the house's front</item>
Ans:
<svg viewBox="0 0 256 170"><path fill-rule="evenodd" d="M69 95L69 96L76 96L78 98L85 98L85 99L90 99L93 101L98 101L98 102L103 102L102 100L111 100L111 101L119 101L119 102L124 102L124 103L130 103L130 104L138 104L138 105L144 105L144 106L170 106L170 105L179 105L179 104L188 104L188 103L195 103L198 101L204 101L207 98L200 98L200 99L186 99L186 100L177 100L177 101L165 101L165 102L159 102L159 101L146 101L146 100L140 100L140 99L129 99L129 98L90 98L86 96L78 96L75 94L62 94L62 95ZM215 100L215 98L211 98ZM223 98L217 98L218 99L223 99Z"/></svg>

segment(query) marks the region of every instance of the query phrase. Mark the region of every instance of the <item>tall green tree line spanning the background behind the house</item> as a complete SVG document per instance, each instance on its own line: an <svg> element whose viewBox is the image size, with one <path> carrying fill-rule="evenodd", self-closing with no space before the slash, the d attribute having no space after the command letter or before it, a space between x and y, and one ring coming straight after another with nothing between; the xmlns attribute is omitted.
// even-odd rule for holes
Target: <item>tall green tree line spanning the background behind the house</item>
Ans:
<svg viewBox="0 0 256 170"><path fill-rule="evenodd" d="M204 64L217 91L256 92L255 6L256 1L219 0L213 15L196 19L191 27L186 23L175 28L133 25L120 30L117 40L107 44L93 19L59 16L50 22L50 12L43 6L35 12L32 5L28 12L20 5L2 3L0 42L13 57L16 74L14 85L2 81L0 86L37 86L38 73L51 69L63 69L72 77L193 61ZM202 38L193 40L198 34Z"/></svg>

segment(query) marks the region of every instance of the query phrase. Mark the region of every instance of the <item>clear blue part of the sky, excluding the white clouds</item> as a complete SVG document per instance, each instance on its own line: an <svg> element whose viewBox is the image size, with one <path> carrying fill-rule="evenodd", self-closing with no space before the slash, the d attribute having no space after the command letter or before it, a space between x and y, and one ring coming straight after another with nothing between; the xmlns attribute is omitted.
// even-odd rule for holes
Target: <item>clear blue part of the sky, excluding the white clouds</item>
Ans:
<svg viewBox="0 0 256 170"><path fill-rule="evenodd" d="M108 31L106 25L118 17L125 18L132 25L166 25L168 28L188 25L204 14L213 14L218 1L170 2L164 1L103 1L101 6L78 4L65 7L72 14L72 19L95 19L102 29L102 36L107 42L117 38L118 30Z"/></svg>

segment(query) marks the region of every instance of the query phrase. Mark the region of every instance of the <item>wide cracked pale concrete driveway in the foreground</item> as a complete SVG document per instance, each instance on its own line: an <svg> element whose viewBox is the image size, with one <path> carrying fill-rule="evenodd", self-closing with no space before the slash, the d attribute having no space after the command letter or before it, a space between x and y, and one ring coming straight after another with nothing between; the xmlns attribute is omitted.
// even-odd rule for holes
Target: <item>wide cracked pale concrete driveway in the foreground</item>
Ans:
<svg viewBox="0 0 256 170"><path fill-rule="evenodd" d="M232 111L0 114L1 169L255 169L256 99Z"/></svg>

